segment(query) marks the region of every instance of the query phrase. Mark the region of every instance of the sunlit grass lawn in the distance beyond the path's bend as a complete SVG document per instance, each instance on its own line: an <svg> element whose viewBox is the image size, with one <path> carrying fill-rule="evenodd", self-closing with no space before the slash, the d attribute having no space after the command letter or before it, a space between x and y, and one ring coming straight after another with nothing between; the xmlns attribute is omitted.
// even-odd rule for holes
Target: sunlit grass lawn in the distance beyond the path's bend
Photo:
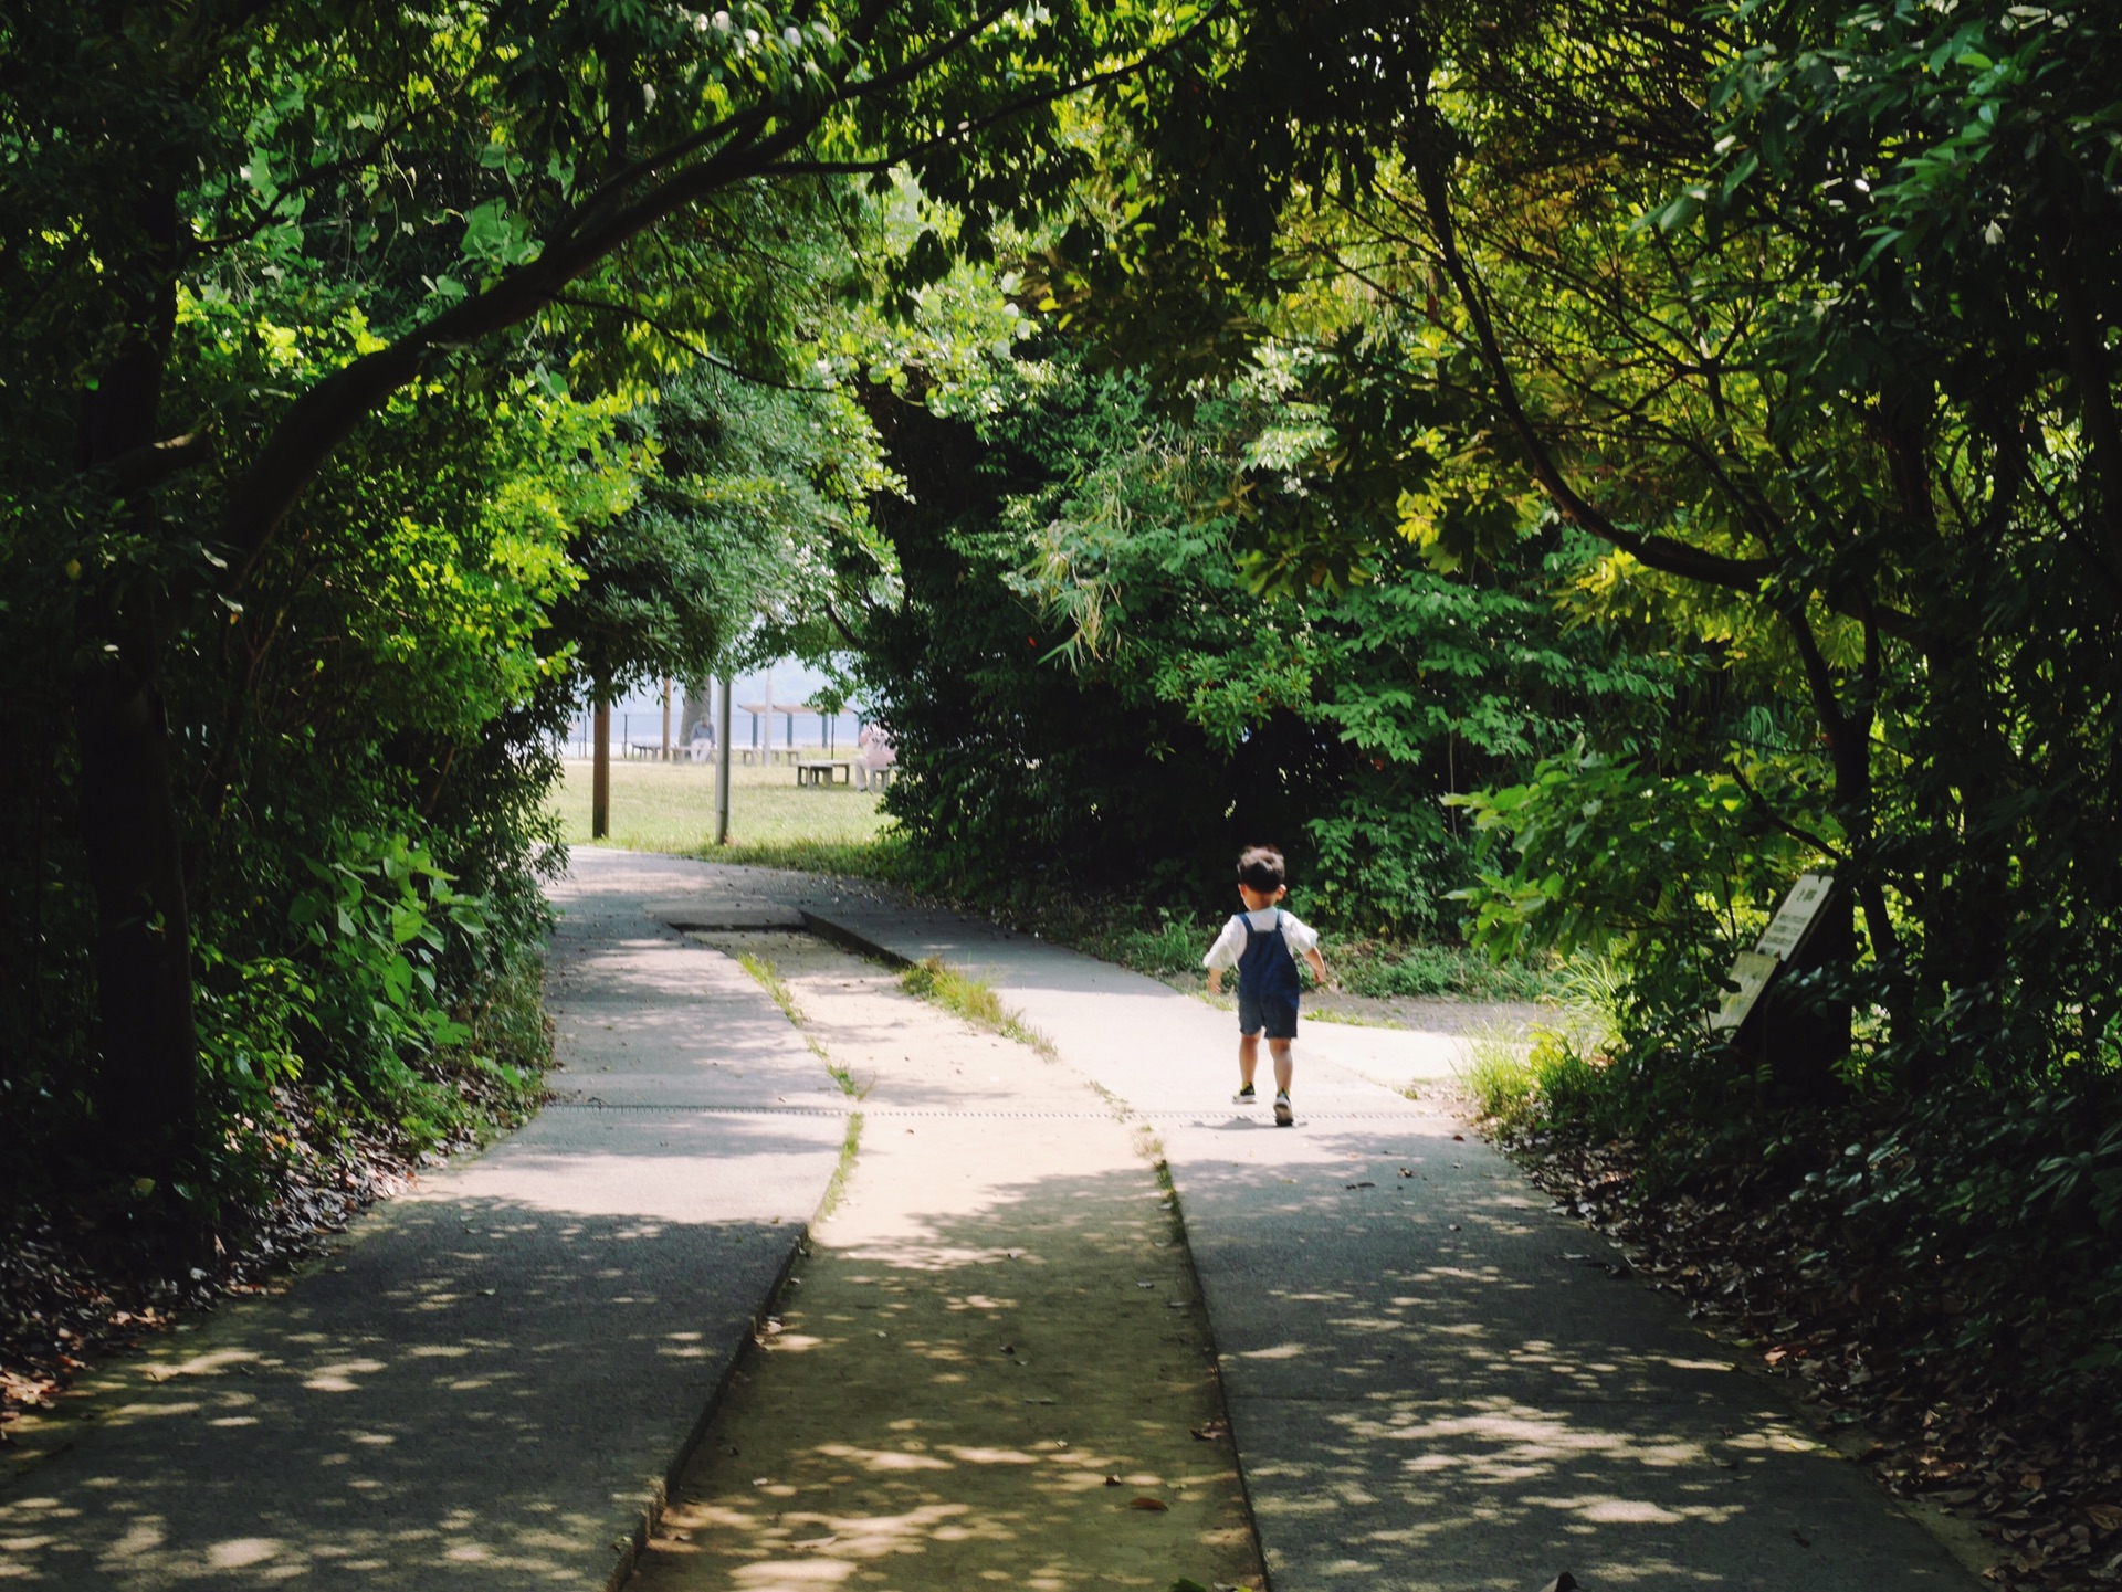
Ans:
<svg viewBox="0 0 2122 1592"><path fill-rule="evenodd" d="M571 761L554 793L571 846L590 844L590 763ZM849 786L796 789L796 770L730 770L730 861L864 848L889 818L876 795ZM611 763L611 844L641 852L698 852L715 844L715 770L709 763Z"/></svg>

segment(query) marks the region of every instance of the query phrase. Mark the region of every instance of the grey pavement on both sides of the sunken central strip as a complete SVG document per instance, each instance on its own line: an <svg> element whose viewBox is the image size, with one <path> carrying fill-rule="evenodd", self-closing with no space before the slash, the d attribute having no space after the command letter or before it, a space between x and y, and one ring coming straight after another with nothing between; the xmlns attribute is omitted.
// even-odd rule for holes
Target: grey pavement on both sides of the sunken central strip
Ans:
<svg viewBox="0 0 2122 1592"><path fill-rule="evenodd" d="M671 924L942 956L1163 1138L1280 1592L1965 1588L1670 1302L1392 1085L1441 1037L1311 1024L1299 1128L1224 1102L1231 1018L798 875L577 852L564 1098L280 1297L112 1367L0 1482L40 1588L598 1588L830 1177L838 1096ZM808 914L808 918L796 918ZM1403 1174L1405 1170L1405 1174ZM25 1422L28 1425L28 1422Z"/></svg>

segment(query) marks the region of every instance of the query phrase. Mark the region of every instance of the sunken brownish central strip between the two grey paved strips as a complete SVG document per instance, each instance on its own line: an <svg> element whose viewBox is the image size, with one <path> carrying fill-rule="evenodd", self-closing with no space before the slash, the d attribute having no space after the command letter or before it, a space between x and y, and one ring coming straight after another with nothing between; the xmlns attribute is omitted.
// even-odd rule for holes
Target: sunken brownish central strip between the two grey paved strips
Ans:
<svg viewBox="0 0 2122 1592"><path fill-rule="evenodd" d="M1129 1130L874 969L747 941L870 1090L862 1153L637 1592L1256 1579L1193 1274Z"/></svg>

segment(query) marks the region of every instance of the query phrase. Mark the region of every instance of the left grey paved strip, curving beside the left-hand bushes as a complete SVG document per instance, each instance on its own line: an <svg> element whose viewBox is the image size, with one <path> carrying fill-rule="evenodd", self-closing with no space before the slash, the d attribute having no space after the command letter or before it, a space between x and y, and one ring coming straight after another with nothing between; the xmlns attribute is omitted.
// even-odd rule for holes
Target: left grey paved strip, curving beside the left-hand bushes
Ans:
<svg viewBox="0 0 2122 1592"><path fill-rule="evenodd" d="M840 1094L609 867L560 890L560 1098L280 1297L21 1422L0 1586L569 1588L634 1533L825 1189ZM800 1111L792 1113L789 1107Z"/></svg>

